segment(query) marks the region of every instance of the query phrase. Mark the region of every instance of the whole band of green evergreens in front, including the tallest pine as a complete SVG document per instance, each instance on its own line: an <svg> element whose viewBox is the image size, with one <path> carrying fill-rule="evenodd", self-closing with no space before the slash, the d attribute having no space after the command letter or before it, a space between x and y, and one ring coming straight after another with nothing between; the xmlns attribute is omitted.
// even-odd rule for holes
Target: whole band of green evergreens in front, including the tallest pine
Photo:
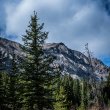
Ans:
<svg viewBox="0 0 110 110"><path fill-rule="evenodd" d="M19 63L13 51L11 67L0 71L0 110L104 110L110 104L110 75L107 81L73 79L61 74L54 56L46 55L43 44L48 32L31 16ZM4 65L2 59L0 66Z"/></svg>

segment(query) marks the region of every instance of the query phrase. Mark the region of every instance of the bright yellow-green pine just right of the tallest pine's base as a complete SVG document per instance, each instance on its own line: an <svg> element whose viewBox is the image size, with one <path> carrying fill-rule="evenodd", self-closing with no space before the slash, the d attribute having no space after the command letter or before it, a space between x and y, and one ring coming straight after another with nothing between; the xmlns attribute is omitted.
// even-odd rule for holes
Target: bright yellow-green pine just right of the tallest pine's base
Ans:
<svg viewBox="0 0 110 110"><path fill-rule="evenodd" d="M70 108L70 91L69 91L68 75L62 75L60 82L57 83L57 90L55 91L54 103L55 110L68 110Z"/></svg>

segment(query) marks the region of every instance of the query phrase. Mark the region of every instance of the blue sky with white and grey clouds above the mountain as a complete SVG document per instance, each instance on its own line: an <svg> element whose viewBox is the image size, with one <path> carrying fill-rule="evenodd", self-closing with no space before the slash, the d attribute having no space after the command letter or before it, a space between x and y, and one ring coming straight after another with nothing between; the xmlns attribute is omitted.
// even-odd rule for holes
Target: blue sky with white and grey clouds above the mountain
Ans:
<svg viewBox="0 0 110 110"><path fill-rule="evenodd" d="M47 42L63 42L81 52L88 43L93 56L110 65L109 0L0 0L0 10L5 37L21 43L35 10L49 32Z"/></svg>

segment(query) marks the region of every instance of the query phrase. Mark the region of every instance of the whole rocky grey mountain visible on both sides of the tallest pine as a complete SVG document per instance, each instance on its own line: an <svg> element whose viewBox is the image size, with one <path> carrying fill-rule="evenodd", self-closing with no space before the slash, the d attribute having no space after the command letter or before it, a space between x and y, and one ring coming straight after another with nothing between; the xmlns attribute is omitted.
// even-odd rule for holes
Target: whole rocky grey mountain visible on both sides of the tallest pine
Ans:
<svg viewBox="0 0 110 110"><path fill-rule="evenodd" d="M25 53L21 47L19 43L0 38L0 63L3 62L5 65L0 66L0 70L10 68L13 52L18 60L23 59ZM101 60L92 58L93 73L89 58L79 51L69 49L63 43L47 43L43 46L43 50L45 54L56 56L54 63L60 65L62 74L71 74L73 78L95 79L107 76L108 67Z"/></svg>

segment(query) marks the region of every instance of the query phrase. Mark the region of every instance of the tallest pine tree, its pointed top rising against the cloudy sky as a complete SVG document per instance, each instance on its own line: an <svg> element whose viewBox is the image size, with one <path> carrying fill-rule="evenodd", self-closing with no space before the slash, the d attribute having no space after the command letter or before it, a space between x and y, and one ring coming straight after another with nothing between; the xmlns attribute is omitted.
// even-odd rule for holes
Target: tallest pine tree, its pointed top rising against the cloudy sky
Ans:
<svg viewBox="0 0 110 110"><path fill-rule="evenodd" d="M23 36L26 57L23 63L24 81L24 103L27 110L42 110L52 106L52 91L50 85L56 77L56 67L53 57L45 55L43 44L48 32L43 32L44 23L38 23L37 14L31 16L29 29Z"/></svg>

